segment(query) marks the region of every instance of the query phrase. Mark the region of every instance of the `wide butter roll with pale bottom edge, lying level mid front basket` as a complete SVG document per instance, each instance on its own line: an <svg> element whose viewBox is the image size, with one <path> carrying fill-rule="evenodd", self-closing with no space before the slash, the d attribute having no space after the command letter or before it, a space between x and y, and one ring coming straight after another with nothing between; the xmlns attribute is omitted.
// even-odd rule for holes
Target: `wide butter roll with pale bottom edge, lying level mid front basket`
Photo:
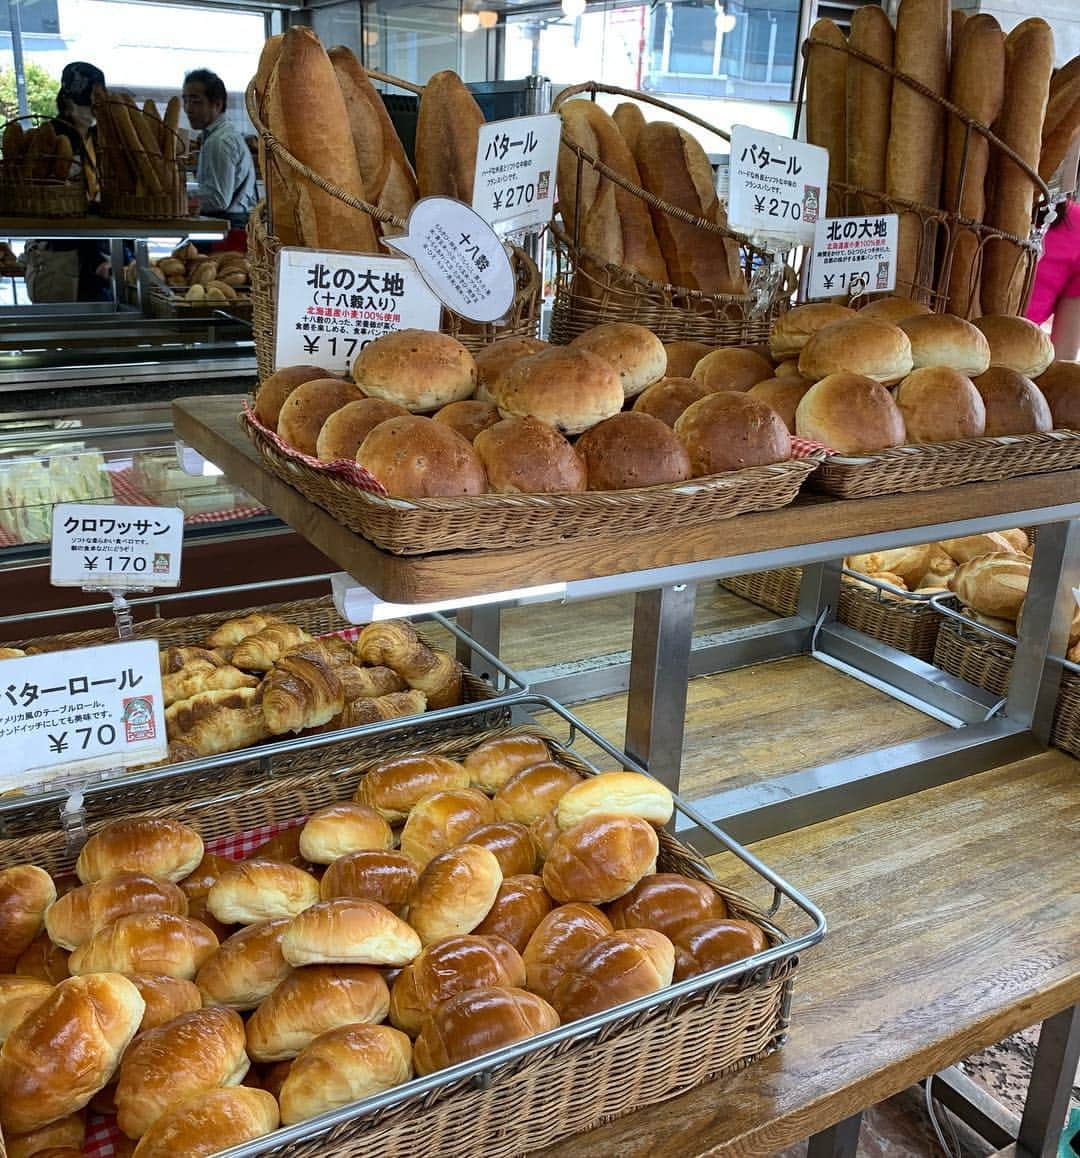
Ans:
<svg viewBox="0 0 1080 1158"><path fill-rule="evenodd" d="M401 968L420 952L420 938L377 901L339 896L294 917L281 936L289 965L381 965Z"/></svg>

